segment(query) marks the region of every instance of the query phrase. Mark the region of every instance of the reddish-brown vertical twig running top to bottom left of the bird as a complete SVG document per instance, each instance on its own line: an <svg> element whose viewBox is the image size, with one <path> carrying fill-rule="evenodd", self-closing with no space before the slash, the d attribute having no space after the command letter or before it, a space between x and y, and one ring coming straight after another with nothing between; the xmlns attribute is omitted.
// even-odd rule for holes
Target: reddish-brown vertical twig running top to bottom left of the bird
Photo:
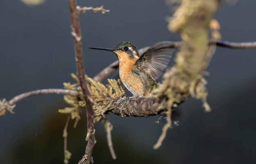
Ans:
<svg viewBox="0 0 256 164"><path fill-rule="evenodd" d="M88 99L88 96L90 96L90 92L87 87L87 81L85 79L85 70L83 68L83 51L82 51L82 36L81 36L81 30L80 30L80 24L78 19L78 11L76 9L76 0L68 0L69 7L70 7L70 17L71 17L71 28L72 28L72 35L74 36L74 47L75 47L75 54L76 54L76 71L77 76L80 81L80 86L83 91L83 97L85 99L86 103L86 109L87 109L87 135L86 140L88 140L86 149L85 149L85 155L83 155L83 158L79 161L79 164L90 164L90 162L93 163L92 158L92 150L94 147L94 144L96 143L95 137L94 137L94 110L92 108L92 103Z"/></svg>

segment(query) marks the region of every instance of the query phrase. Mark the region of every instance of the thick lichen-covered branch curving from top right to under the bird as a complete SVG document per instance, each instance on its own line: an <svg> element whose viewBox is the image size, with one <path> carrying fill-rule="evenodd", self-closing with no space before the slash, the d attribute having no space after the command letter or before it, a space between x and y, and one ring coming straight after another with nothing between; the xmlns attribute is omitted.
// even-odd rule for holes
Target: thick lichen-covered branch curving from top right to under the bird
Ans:
<svg viewBox="0 0 256 164"><path fill-rule="evenodd" d="M218 6L218 0L182 0L169 22L169 29L179 32L182 37L180 52L177 53L175 66L163 75L163 83L153 90L151 98L117 98L110 101L113 104L110 111L122 116L167 114L167 123L154 149L162 144L167 129L171 127L174 103L180 104L193 96L202 100L206 111L211 109L206 101L208 93L202 75L211 57L209 53L213 52L209 51L209 23Z"/></svg>

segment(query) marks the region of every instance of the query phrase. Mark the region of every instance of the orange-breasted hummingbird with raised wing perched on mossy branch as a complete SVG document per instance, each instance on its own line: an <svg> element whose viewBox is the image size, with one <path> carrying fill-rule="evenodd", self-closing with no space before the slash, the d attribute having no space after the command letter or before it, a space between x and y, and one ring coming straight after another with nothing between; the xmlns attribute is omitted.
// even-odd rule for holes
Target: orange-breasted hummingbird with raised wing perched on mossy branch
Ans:
<svg viewBox="0 0 256 164"><path fill-rule="evenodd" d="M91 49L114 52L119 60L119 77L134 97L151 97L157 79L171 60L174 49L170 41L158 42L148 48L141 56L131 42L121 42L116 48Z"/></svg>

